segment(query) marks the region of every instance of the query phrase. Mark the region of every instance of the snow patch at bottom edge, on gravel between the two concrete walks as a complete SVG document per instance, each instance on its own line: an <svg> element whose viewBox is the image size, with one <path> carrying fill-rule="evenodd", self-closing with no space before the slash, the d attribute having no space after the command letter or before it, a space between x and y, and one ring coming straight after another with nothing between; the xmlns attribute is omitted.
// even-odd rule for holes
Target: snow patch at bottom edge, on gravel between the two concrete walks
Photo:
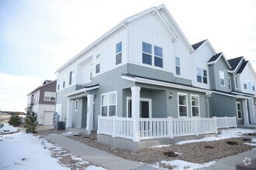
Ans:
<svg viewBox="0 0 256 170"><path fill-rule="evenodd" d="M161 164L170 165L174 169L186 169L186 170L197 169L197 168L206 168L206 167L209 167L209 166L211 166L215 163L216 163L215 161L207 162L207 163L204 163L204 164L195 164L195 163L191 163L191 162L185 162L185 161L182 161L182 160L174 160L174 161L169 161L169 162L161 161ZM154 165L154 167L160 168L159 163Z"/></svg>

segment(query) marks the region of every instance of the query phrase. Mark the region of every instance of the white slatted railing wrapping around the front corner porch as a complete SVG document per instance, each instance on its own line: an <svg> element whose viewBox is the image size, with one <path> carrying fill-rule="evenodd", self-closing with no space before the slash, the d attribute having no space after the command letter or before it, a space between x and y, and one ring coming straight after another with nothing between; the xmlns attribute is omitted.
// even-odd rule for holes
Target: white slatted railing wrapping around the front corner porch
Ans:
<svg viewBox="0 0 256 170"><path fill-rule="evenodd" d="M136 122L138 130L134 132ZM127 117L98 117L98 134L129 138L133 141L211 134L217 133L217 128L229 127L237 127L236 117L139 118L138 121Z"/></svg>

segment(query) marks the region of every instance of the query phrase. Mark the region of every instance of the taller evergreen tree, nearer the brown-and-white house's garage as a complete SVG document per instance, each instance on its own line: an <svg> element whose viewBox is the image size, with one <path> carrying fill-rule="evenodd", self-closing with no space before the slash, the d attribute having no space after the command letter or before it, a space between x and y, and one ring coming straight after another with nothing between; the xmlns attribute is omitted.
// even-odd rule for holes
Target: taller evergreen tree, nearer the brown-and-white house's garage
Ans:
<svg viewBox="0 0 256 170"><path fill-rule="evenodd" d="M36 114L33 111L27 111L25 118L26 133L35 133L37 123L38 122L36 121Z"/></svg>

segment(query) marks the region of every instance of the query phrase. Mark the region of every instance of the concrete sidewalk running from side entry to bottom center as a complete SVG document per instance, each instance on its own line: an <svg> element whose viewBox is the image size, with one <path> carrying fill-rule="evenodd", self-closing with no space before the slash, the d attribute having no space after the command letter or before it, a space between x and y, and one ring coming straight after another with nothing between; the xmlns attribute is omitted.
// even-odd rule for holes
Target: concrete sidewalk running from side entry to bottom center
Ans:
<svg viewBox="0 0 256 170"><path fill-rule="evenodd" d="M74 141L71 138L67 138L64 135L47 135L45 136L49 141L61 146L62 148L71 151L75 155L85 158L85 161L91 162L94 165L102 166L109 170L146 170L157 169L149 165L140 164L138 162L131 162L123 158L119 158L115 155L111 155L106 151L101 151L97 148L92 148L88 145L81 144L78 141Z"/></svg>

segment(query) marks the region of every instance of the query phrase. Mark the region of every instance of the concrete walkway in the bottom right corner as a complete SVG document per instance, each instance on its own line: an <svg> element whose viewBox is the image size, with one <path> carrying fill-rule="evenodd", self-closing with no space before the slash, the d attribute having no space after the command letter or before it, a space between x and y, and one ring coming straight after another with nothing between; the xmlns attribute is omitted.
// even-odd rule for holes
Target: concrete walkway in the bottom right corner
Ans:
<svg viewBox="0 0 256 170"><path fill-rule="evenodd" d="M220 169L235 170L236 165L243 163L244 158L250 158L251 160L256 158L256 149L254 148L254 150L251 150L251 151L245 151L237 155L216 160L216 163L214 165L208 168L200 168L200 170L220 170Z"/></svg>

